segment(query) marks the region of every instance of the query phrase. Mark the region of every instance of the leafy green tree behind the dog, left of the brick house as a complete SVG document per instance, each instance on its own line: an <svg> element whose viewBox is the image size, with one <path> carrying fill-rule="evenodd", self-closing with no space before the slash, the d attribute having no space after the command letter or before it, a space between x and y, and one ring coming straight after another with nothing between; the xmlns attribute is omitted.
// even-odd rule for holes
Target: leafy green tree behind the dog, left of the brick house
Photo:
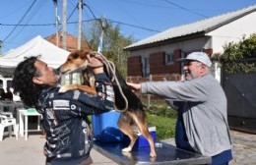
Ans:
<svg viewBox="0 0 256 165"><path fill-rule="evenodd" d="M116 69L126 78L128 52L123 51L123 47L134 42L134 38L121 34L119 25L113 26L107 22L104 29L102 54L115 64ZM96 20L90 25L84 26L83 37L88 41L92 50L97 50L102 27L101 22Z"/></svg>

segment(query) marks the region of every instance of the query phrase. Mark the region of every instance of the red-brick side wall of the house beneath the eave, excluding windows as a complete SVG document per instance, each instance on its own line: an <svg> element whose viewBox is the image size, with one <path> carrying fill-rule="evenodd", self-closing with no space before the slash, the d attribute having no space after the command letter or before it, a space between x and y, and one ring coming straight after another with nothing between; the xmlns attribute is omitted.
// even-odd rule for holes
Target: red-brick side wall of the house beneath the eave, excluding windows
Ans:
<svg viewBox="0 0 256 165"><path fill-rule="evenodd" d="M195 50L205 50L211 48L211 37L201 37L191 40L160 45L153 48L136 50L130 52L128 58L128 82L145 82L149 78L142 78L142 60L141 57L149 57L150 74L153 81L179 81L181 79L181 64L176 60L181 58L181 54ZM212 51L208 53L211 54ZM165 54L173 54L173 65L165 65Z"/></svg>

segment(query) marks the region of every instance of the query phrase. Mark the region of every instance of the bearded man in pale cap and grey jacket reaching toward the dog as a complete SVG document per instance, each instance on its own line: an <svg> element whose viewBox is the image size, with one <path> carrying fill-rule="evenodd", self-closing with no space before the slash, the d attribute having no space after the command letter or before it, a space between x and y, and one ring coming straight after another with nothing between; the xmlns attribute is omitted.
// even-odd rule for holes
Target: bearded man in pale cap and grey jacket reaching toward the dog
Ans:
<svg viewBox="0 0 256 165"><path fill-rule="evenodd" d="M203 52L190 53L184 63L184 82L128 83L142 94L162 97L178 110L175 141L185 150L211 156L212 164L228 164L232 159L227 124L226 97L212 76L212 62Z"/></svg>

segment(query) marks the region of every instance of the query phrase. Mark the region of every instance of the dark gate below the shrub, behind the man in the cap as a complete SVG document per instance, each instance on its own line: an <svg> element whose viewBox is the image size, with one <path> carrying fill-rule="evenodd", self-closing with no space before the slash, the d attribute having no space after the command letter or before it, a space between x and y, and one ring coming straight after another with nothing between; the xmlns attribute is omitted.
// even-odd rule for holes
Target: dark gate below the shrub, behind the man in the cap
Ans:
<svg viewBox="0 0 256 165"><path fill-rule="evenodd" d="M255 59L250 61L255 62ZM229 127L256 134L256 73L228 74L225 67L222 84L227 98Z"/></svg>

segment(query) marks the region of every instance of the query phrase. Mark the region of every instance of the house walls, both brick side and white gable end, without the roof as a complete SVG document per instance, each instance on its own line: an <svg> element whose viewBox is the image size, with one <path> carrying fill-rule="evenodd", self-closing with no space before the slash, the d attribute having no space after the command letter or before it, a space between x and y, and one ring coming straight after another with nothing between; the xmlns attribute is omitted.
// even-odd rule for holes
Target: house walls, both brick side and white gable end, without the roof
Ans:
<svg viewBox="0 0 256 165"><path fill-rule="evenodd" d="M251 33L256 32L256 22L254 20L256 20L256 12L246 15L223 27L218 27L206 33L204 37L131 51L130 60L128 60L128 78L132 80L133 77L137 77L136 79L138 80L142 77L141 56L150 58L150 74L153 76L153 79L155 77L162 77L160 79L164 79L165 77L165 80L168 80L169 78L167 77L170 75L181 75L182 66L177 64L173 66L164 65L164 54L175 52L175 59L177 59L180 58L182 54L185 56L192 51L204 51L210 55L223 53L224 44L231 41L237 42L241 40L243 36L248 37ZM133 61L136 61L136 63L130 64ZM216 79L220 82L221 72L218 64L214 65L213 71ZM176 78L175 76L174 80L176 80ZM172 80L172 78L170 80Z"/></svg>

